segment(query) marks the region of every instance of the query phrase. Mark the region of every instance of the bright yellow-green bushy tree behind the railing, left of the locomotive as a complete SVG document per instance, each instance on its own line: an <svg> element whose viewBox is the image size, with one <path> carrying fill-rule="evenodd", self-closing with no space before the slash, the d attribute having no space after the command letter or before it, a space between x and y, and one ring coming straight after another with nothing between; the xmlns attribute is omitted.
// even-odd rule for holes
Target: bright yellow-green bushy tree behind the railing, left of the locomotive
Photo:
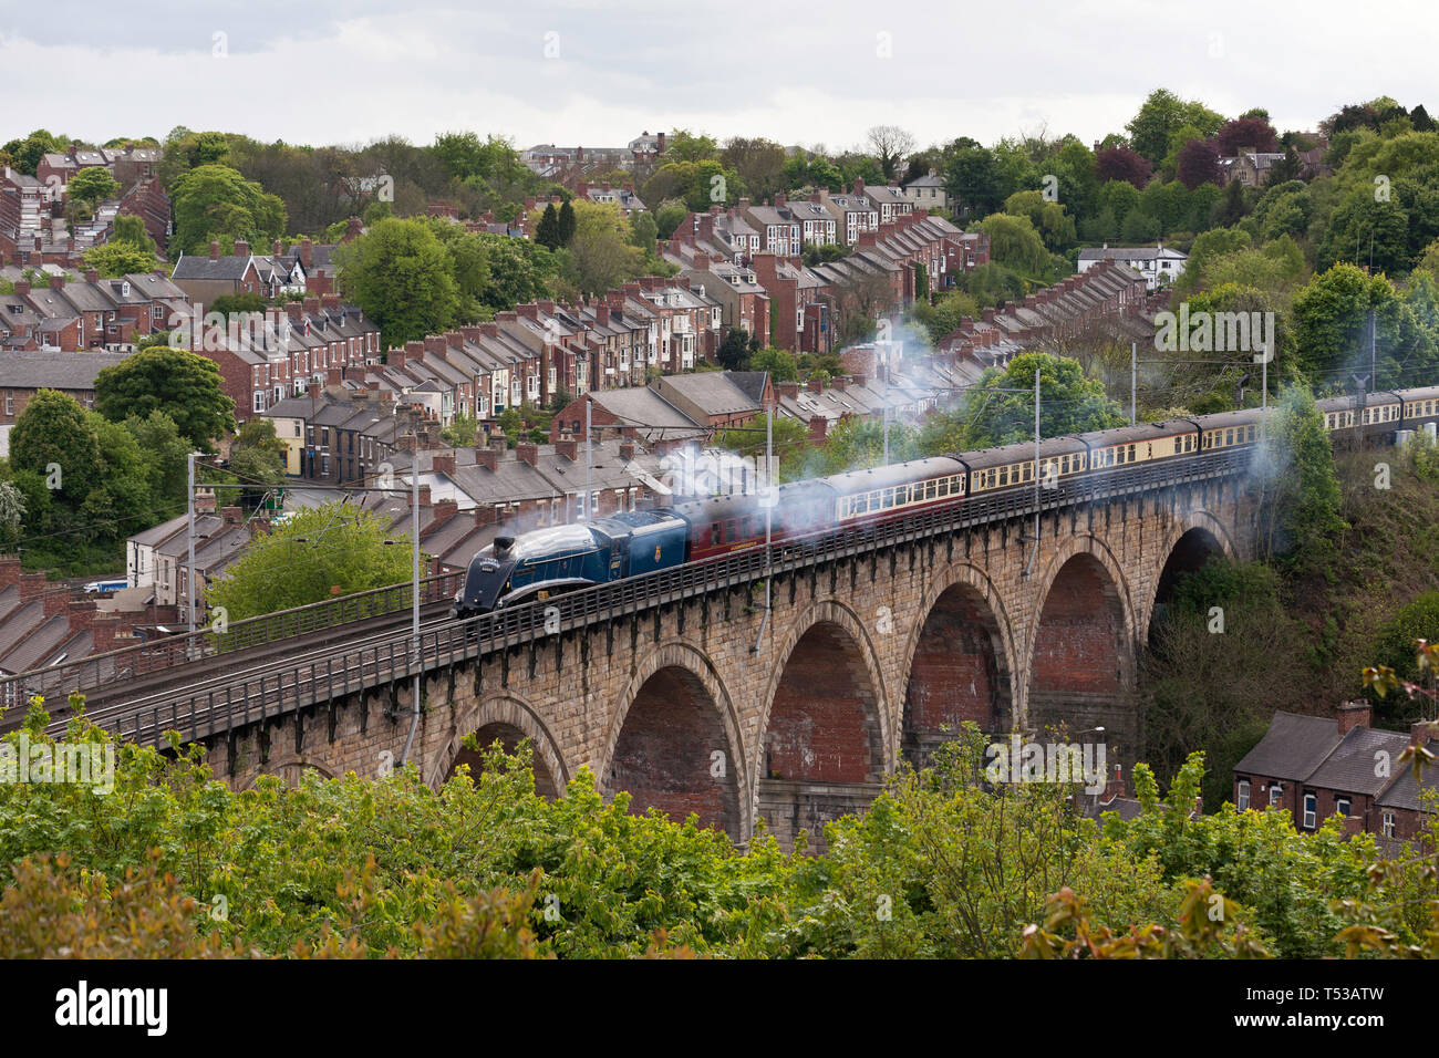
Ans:
<svg viewBox="0 0 1439 1058"><path fill-rule="evenodd" d="M206 599L230 620L243 620L399 584L410 577L410 547L387 546L389 524L389 517L345 502L304 510L256 537Z"/></svg>

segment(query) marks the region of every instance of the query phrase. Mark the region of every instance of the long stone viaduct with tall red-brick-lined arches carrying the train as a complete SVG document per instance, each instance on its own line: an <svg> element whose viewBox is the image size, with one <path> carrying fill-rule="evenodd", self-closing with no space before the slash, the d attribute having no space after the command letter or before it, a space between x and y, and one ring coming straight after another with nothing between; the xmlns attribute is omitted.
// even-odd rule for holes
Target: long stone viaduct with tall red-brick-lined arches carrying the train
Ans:
<svg viewBox="0 0 1439 1058"><path fill-rule="evenodd" d="M966 720L989 731L1102 725L1138 750L1135 664L1180 570L1245 559L1242 475L1073 502L777 573L432 668L409 761L440 785L466 736L528 740L538 787L580 769L632 810L694 812L747 841L819 845L902 760ZM201 741L236 787L304 769L383 773L410 731L410 689L361 689ZM249 715L249 714L246 714ZM1098 740L1101 736L1089 736Z"/></svg>

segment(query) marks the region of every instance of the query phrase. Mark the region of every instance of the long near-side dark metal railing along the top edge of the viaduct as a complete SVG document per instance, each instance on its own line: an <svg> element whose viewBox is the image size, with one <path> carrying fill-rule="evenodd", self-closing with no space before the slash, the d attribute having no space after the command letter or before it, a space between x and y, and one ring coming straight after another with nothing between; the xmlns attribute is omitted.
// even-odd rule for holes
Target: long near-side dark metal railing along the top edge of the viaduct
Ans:
<svg viewBox="0 0 1439 1058"><path fill-rule="evenodd" d="M554 632L581 629L616 618L635 616L682 599L735 589L766 576L783 576L872 551L944 537L986 524L1101 499L1147 495L1164 488L1222 479L1246 472L1248 449L1202 453L1191 459L1143 465L1062 481L1042 489L1039 504L1030 487L1012 488L976 499L935 507L892 521L826 531L777 541L766 550L735 554L630 577L610 584L507 607L463 620L440 620L420 630L419 649L409 628L350 641L342 649L311 649L265 664L236 655L226 665L214 658L204 678L109 705L89 714L95 723L137 743L164 744L176 730L190 741L209 738L236 725L289 714L355 691L397 688L419 668L426 672L484 659ZM62 724L56 721L59 731Z"/></svg>

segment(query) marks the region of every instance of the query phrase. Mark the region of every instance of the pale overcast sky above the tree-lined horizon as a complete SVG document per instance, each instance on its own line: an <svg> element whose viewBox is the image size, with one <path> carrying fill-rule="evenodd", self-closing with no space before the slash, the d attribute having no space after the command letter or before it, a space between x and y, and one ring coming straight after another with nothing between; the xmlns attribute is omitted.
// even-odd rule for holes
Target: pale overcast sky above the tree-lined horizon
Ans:
<svg viewBox="0 0 1439 1058"><path fill-rule="evenodd" d="M1439 117L1432 0L0 0L0 143L176 125L262 141L475 130L623 145L689 128L830 150L1122 125L1158 86L1312 128L1392 95Z"/></svg>

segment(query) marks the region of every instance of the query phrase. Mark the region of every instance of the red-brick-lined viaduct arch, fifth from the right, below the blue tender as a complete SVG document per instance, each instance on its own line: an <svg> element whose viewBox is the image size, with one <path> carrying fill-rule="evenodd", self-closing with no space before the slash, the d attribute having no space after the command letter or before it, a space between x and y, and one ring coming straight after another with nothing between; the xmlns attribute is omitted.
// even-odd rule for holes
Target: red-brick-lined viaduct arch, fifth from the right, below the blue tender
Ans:
<svg viewBox="0 0 1439 1058"><path fill-rule="evenodd" d="M688 792L672 792L676 808L671 810L671 816L673 818L679 812L675 822L681 822L686 803L695 802L696 806L708 808L711 815L718 812L718 822L722 822L722 829L731 838L735 841L747 839L753 828L750 774L745 767L750 756L745 750L734 700L709 658L678 639L650 648L636 661L604 730L603 757L597 776L600 789L614 793L612 785L616 769L623 766L620 757L627 753L645 751L635 743L622 744L626 740L626 723L635 718L650 728L658 725L656 721L662 723L662 718L655 714L659 702L650 695L650 691L656 689L669 698L681 695L689 698L689 702L681 702L682 707L688 708L681 708L678 720L688 723L688 731L684 734L699 733L705 743L702 746L695 746L692 741L679 743L679 751L694 757L694 761L686 766L692 785ZM636 704L646 715L633 715ZM705 730L708 724L707 710L714 718L714 725L709 730ZM662 744L665 734L668 731L653 730L646 741L653 743L655 750L663 751L666 749ZM727 754L722 779L715 779L712 773L714 750L724 750ZM718 803L715 797L718 797ZM636 810L643 810L643 805L639 805L637 799L633 806ZM665 806L658 805L658 808L663 809ZM701 812L701 816L704 818L705 812Z"/></svg>

